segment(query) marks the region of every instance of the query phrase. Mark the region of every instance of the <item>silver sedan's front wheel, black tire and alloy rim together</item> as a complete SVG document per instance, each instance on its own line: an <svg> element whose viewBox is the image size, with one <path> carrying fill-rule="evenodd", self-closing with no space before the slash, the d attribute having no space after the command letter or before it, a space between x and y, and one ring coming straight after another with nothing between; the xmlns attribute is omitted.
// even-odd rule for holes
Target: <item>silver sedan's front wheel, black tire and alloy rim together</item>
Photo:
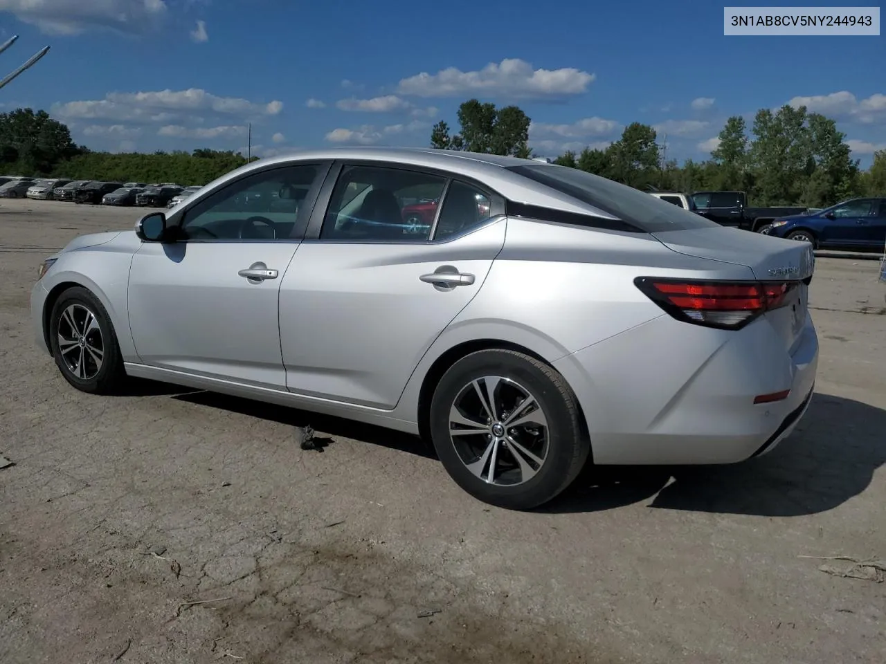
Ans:
<svg viewBox="0 0 886 664"><path fill-rule="evenodd" d="M94 322L89 324L89 320ZM105 306L89 290L75 286L58 297L50 314L50 346L58 370L77 390L108 395L122 392L126 372L113 323Z"/></svg>

